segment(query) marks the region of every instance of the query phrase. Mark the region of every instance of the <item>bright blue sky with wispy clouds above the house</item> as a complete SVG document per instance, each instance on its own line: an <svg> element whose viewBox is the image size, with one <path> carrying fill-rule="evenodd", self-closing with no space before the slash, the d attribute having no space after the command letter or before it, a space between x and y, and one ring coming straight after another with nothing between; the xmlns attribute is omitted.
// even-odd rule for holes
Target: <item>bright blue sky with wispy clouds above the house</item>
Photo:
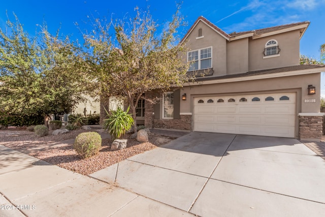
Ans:
<svg viewBox="0 0 325 217"><path fill-rule="evenodd" d="M14 12L29 34L34 34L37 24L47 22L52 34L58 27L60 33L81 38L75 22L82 24L87 16L123 18L133 15L134 8L146 8L150 5L153 19L166 23L172 19L176 10L175 0L56 0L32 1L10 0L0 5L0 27L5 27L9 18L13 20ZM300 41L300 53L319 58L319 46L325 43L325 0L265 0L265 1L213 1L183 0L181 14L188 26L179 30L180 38L192 23L204 16L226 33L265 28L270 26L301 22L311 23ZM325 96L325 76L322 76L322 94Z"/></svg>

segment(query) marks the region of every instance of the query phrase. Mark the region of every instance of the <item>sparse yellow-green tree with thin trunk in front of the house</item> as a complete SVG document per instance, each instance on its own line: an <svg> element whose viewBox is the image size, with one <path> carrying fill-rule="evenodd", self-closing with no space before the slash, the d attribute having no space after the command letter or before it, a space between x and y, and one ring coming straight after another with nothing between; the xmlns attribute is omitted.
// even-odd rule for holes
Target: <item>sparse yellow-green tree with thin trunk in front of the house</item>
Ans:
<svg viewBox="0 0 325 217"><path fill-rule="evenodd" d="M102 94L124 99L130 106L137 131L136 107L140 99L154 103L144 95L154 89L167 90L187 81L188 65L183 63L186 55L184 44L177 44L177 28L183 24L179 7L168 26L157 32L159 25L149 10L135 9L136 15L114 24L111 37L110 24L94 20L93 31L84 34L92 49L89 63L98 76ZM164 26L162 26L164 27Z"/></svg>

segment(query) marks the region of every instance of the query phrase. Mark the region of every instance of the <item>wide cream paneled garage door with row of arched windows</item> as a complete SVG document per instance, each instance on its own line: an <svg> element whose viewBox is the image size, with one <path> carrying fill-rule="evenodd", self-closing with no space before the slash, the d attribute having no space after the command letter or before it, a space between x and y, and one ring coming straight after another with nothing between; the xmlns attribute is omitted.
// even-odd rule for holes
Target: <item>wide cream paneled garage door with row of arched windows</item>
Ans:
<svg viewBox="0 0 325 217"><path fill-rule="evenodd" d="M296 94L194 98L194 131L295 137Z"/></svg>

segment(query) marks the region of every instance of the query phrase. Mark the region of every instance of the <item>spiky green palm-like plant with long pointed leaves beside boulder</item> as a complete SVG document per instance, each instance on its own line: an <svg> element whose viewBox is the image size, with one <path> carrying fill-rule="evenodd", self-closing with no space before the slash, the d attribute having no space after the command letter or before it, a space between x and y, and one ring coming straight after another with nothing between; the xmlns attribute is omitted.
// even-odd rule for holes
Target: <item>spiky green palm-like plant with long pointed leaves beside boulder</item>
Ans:
<svg viewBox="0 0 325 217"><path fill-rule="evenodd" d="M113 137L113 139L121 138L134 125L132 114L128 114L130 107L123 111L120 107L116 111L112 111L110 115L106 110L107 119L104 119L104 129Z"/></svg>

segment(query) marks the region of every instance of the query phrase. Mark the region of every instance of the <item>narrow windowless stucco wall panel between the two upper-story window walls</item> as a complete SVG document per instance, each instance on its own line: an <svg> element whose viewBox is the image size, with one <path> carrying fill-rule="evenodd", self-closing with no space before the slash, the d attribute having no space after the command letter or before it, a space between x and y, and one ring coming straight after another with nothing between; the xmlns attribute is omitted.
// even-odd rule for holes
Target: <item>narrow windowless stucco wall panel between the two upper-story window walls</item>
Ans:
<svg viewBox="0 0 325 217"><path fill-rule="evenodd" d="M227 43L227 74L248 72L248 38Z"/></svg>

